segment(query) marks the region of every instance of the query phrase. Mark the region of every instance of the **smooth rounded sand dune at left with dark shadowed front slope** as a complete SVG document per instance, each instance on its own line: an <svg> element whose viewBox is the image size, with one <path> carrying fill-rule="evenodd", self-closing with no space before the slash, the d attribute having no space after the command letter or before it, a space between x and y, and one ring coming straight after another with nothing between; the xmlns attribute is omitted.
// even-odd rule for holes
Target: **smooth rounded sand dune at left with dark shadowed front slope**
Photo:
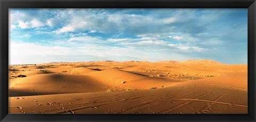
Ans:
<svg viewBox="0 0 256 122"><path fill-rule="evenodd" d="M9 86L10 96L107 91L106 84L84 75L34 75L13 80Z"/></svg>

